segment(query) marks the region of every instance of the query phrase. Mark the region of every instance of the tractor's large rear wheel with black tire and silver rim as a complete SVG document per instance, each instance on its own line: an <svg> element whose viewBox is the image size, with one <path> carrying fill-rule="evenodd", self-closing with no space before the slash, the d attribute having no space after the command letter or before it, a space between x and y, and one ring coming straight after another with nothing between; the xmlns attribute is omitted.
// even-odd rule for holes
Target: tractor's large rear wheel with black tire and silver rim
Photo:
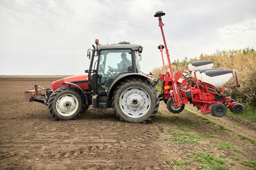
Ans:
<svg viewBox="0 0 256 170"><path fill-rule="evenodd" d="M147 80L138 78L121 82L112 99L112 106L121 121L147 123L159 107L156 89Z"/></svg>

